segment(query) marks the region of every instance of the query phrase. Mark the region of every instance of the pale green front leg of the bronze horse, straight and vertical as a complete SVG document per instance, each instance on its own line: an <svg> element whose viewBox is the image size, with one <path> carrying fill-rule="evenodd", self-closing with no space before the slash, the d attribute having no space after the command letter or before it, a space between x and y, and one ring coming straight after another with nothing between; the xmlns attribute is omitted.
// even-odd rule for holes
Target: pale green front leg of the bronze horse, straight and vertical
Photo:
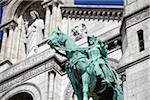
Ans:
<svg viewBox="0 0 150 100"><path fill-rule="evenodd" d="M87 72L82 75L82 85L83 85L83 100L88 100L90 77Z"/></svg>

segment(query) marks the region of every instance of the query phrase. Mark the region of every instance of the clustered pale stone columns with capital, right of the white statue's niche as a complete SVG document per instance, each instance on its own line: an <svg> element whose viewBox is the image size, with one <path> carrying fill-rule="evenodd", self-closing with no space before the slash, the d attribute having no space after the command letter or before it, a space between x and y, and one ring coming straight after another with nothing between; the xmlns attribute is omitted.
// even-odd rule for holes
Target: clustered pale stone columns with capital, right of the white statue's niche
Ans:
<svg viewBox="0 0 150 100"><path fill-rule="evenodd" d="M45 16L45 38L50 36L50 33L56 29L56 27L61 28L62 23L62 15L59 4L60 0L44 0L43 7L46 9ZM52 6L52 12L50 10L50 6Z"/></svg>

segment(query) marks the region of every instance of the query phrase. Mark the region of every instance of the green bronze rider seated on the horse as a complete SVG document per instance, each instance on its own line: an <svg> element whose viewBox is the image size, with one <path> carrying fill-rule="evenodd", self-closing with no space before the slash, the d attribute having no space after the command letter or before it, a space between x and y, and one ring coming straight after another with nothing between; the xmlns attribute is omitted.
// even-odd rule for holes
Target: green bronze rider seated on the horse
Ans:
<svg viewBox="0 0 150 100"><path fill-rule="evenodd" d="M104 47L104 43L92 36L88 37L88 45L88 58L91 61L92 67L94 67L96 76L100 76L104 82L109 82L112 79L112 73L108 66L106 66L107 49Z"/></svg>

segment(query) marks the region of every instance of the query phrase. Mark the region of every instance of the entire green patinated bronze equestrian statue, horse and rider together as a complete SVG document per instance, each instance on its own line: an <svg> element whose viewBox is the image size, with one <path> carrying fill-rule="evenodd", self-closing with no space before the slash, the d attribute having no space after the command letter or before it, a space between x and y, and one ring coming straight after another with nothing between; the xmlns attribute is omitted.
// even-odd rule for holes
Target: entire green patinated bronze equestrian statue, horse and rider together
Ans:
<svg viewBox="0 0 150 100"><path fill-rule="evenodd" d="M61 50L66 52L66 72L78 100L88 100L90 96L99 100L98 94L107 87L113 89L113 100L123 100L123 92L115 71L107 61L104 42L92 36L88 37L87 48L79 48L69 36L56 29L48 44L60 54Z"/></svg>

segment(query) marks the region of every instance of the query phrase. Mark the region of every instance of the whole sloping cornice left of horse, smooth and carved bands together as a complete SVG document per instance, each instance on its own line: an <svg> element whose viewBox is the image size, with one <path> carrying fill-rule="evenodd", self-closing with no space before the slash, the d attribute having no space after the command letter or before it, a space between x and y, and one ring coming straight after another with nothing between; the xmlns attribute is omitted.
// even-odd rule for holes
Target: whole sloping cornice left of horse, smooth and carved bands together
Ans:
<svg viewBox="0 0 150 100"><path fill-rule="evenodd" d="M9 69L0 73L0 93L44 72L54 71L63 76L66 73L55 60L55 51L47 49L20 63L11 65Z"/></svg>

